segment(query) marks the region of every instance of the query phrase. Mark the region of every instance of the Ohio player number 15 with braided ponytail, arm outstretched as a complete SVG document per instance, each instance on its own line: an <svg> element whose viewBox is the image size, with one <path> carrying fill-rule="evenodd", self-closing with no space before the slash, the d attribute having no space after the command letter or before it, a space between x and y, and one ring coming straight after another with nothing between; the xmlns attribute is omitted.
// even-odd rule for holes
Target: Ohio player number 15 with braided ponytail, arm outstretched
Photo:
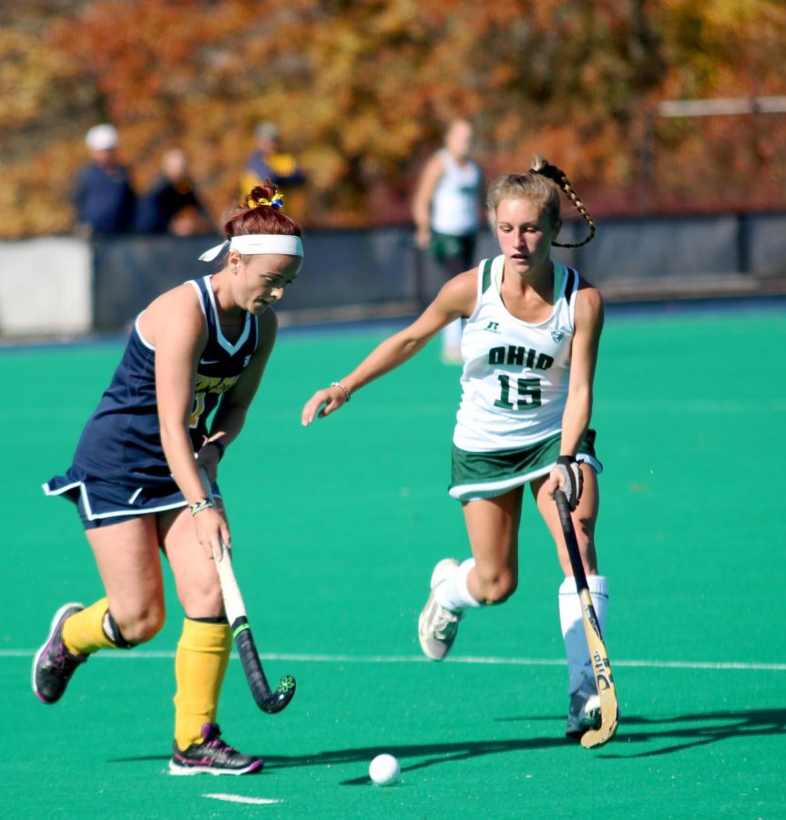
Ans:
<svg viewBox="0 0 786 820"><path fill-rule="evenodd" d="M518 530L524 488L556 544L565 579L558 603L568 665L566 734L580 737L600 721L581 609L554 493L573 511L587 580L605 630L607 579L598 574L595 523L602 467L589 429L597 350L603 326L600 294L551 259L562 222L562 191L595 222L560 169L537 158L526 174L492 183L487 205L499 256L447 282L411 325L381 343L340 382L304 406L303 425L345 405L364 384L403 364L444 326L464 317L463 395L456 417L450 495L459 500L472 557L434 567L418 632L425 655L442 661L467 610L500 604L518 585Z"/></svg>

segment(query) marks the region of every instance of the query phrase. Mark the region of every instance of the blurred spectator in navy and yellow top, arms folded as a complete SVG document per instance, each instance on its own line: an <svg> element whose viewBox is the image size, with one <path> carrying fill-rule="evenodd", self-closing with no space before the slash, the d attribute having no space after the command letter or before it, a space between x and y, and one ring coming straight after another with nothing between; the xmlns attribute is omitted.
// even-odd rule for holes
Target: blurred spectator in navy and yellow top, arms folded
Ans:
<svg viewBox="0 0 786 820"><path fill-rule="evenodd" d="M254 136L256 149L251 153L240 179L240 190L248 191L271 179L277 188L286 190L285 207L292 219L303 221L306 216L306 175L294 154L281 150L279 128L274 122L262 122Z"/></svg>

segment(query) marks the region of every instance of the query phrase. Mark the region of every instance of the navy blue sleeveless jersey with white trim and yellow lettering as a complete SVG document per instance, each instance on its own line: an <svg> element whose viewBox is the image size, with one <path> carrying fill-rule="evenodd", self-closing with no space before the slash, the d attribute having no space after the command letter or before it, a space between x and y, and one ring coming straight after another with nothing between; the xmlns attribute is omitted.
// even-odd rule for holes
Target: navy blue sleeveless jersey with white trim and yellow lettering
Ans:
<svg viewBox="0 0 786 820"><path fill-rule="evenodd" d="M238 341L230 343L221 333L210 277L189 284L199 293L208 329L189 420L196 453L208 433L209 415L219 404L221 394L238 381L259 344L259 323L246 313ZM81 473L125 487L171 482L158 425L155 358L156 350L139 333L137 320L112 382L79 439L73 466Z"/></svg>

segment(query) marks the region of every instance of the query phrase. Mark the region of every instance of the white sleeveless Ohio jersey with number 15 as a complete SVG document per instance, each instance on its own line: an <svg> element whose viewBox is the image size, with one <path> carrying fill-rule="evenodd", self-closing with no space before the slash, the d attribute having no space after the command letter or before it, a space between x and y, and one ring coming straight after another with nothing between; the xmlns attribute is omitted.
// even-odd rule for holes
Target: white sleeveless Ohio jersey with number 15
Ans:
<svg viewBox="0 0 786 820"><path fill-rule="evenodd" d="M554 308L530 324L499 293L504 256L478 265L477 305L464 324L454 445L471 453L527 447L562 430L578 273L554 263Z"/></svg>

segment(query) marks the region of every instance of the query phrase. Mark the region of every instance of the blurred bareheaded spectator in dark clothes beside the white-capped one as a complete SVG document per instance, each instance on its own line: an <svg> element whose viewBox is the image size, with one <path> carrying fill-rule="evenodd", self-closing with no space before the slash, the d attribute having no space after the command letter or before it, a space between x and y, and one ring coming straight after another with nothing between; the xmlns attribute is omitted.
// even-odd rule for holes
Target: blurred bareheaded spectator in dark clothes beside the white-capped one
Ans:
<svg viewBox="0 0 786 820"><path fill-rule="evenodd" d="M182 149L169 149L161 162L161 174L139 200L137 230L190 236L214 231L208 211L199 200L189 173L189 159Z"/></svg>

